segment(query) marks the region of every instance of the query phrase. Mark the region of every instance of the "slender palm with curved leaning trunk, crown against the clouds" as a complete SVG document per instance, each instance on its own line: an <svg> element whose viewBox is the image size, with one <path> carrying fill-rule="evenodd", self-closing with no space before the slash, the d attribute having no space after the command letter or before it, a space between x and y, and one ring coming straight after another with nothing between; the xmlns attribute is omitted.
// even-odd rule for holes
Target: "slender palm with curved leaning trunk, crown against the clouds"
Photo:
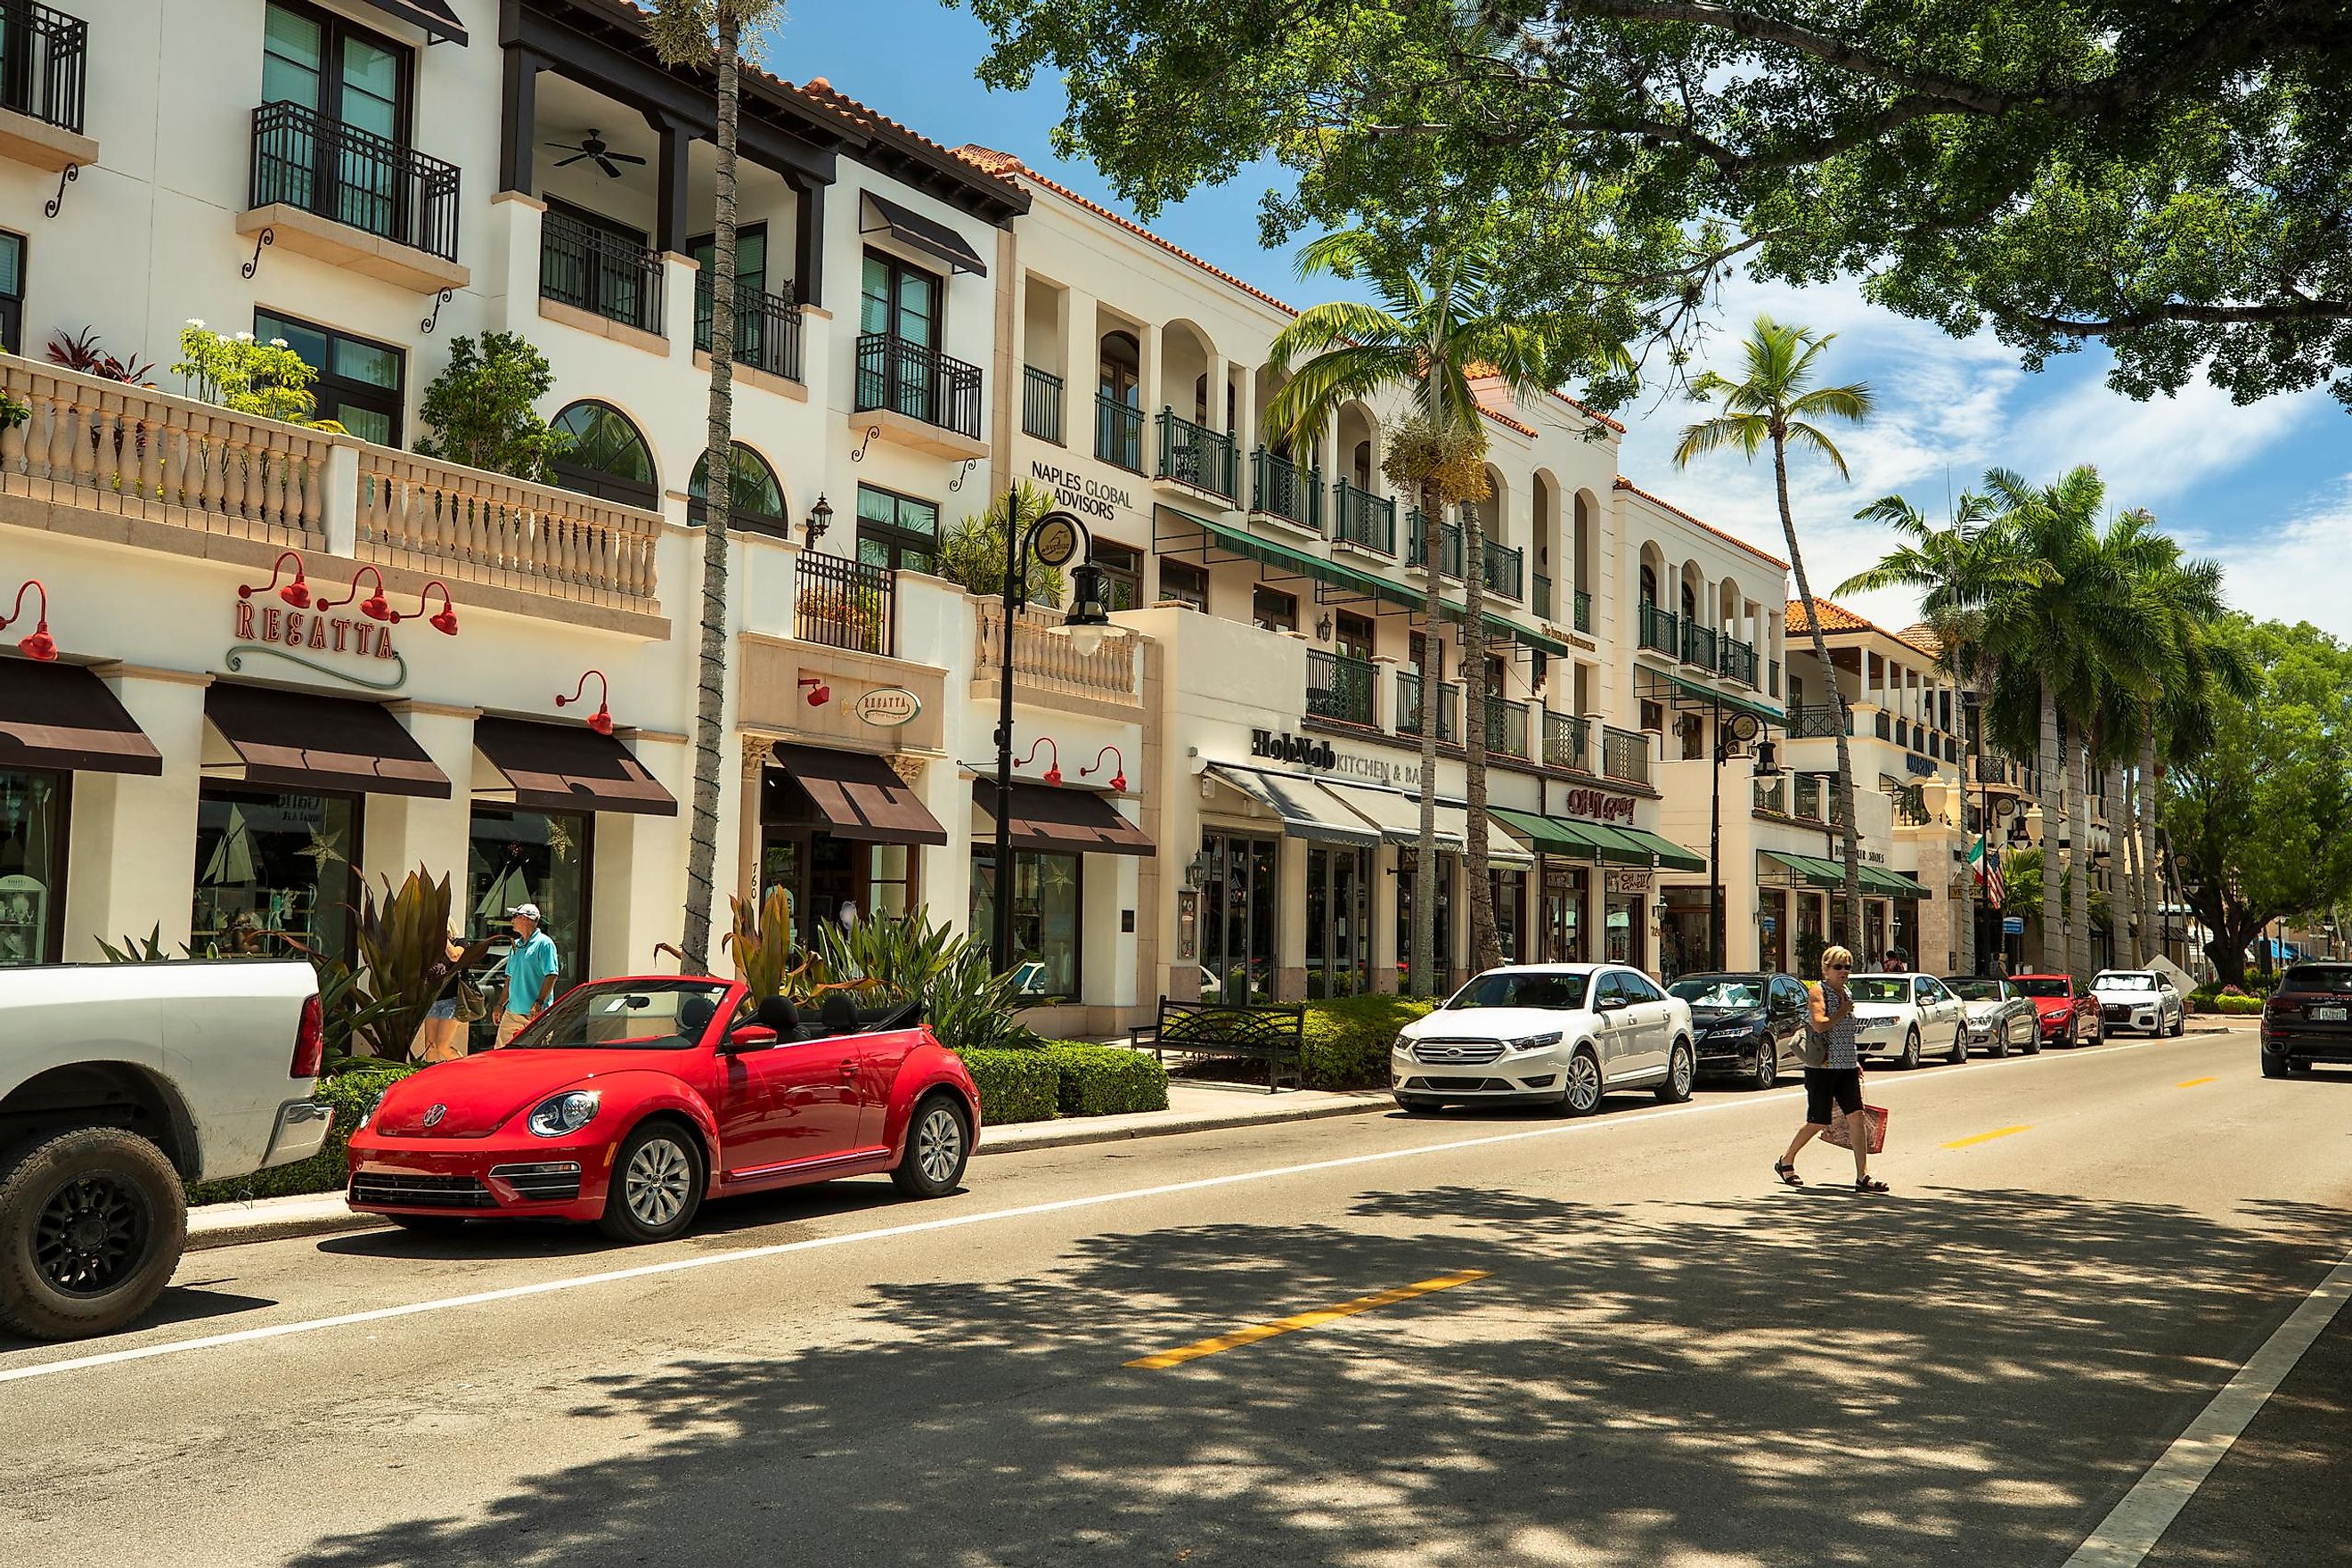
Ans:
<svg viewBox="0 0 2352 1568"><path fill-rule="evenodd" d="M1813 607L1813 583L1804 574L1804 550L1797 545L1797 520L1788 508L1788 449L1811 447L1837 465L1839 477L1851 480L1846 456L1837 444L1809 423L1816 418L1844 418L1863 423L1870 416L1870 388L1860 381L1849 386L1813 386L1813 362L1837 341L1835 331L1811 327L1785 327L1769 315L1759 315L1740 346L1748 360L1745 381L1731 381L1715 371L1691 383L1696 397L1724 400L1724 411L1689 425L1682 444L1675 447L1675 465L1686 468L1691 458L1722 447L1736 447L1748 461L1771 442L1773 498L1780 503L1780 538L1788 545L1788 564L1797 574L1797 597L1804 602L1806 625L1813 630L1813 658L1830 679L1830 696L1837 698L1837 806L1846 825L1846 940L1863 936L1863 844L1853 823L1853 748L1846 741L1846 693L1837 684L1830 665L1830 642L1820 635L1820 611Z"/></svg>

